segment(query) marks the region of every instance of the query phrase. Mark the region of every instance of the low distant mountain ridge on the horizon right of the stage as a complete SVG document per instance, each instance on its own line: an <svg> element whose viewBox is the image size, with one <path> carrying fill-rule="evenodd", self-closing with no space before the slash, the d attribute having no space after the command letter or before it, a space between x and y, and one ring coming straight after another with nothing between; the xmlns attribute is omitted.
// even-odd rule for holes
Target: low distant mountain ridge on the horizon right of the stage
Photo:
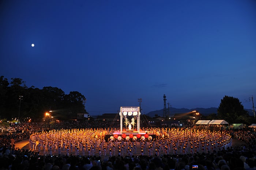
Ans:
<svg viewBox="0 0 256 170"><path fill-rule="evenodd" d="M166 109L167 112L168 112L168 108ZM186 109L186 108L169 108L169 115L170 116L174 116L174 114L176 113L188 113L188 112L191 112L191 111L198 111L200 114L204 115L204 116L207 116L211 113L216 113L217 114L217 110L218 108L215 108L215 107L211 107L211 108L194 108L194 109ZM252 109L245 109L246 111L249 112L249 115L250 116L253 116L253 111ZM157 111L151 111L151 112L148 112L146 114L147 116L150 116L150 117L155 117L155 115L158 115L158 116L163 116L163 109L161 110L157 110Z"/></svg>

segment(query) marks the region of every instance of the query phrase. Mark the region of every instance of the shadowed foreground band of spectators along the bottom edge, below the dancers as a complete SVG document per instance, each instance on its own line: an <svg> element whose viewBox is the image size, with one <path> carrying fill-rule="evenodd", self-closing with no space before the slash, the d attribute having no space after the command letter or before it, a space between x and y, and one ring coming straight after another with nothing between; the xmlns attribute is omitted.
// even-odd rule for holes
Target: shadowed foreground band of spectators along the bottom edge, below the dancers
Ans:
<svg viewBox="0 0 256 170"><path fill-rule="evenodd" d="M8 148L1 148L7 151ZM227 150L212 154L180 154L159 156L40 156L28 150L0 155L1 170L254 170L253 152ZM2 152L1 152L2 153Z"/></svg>

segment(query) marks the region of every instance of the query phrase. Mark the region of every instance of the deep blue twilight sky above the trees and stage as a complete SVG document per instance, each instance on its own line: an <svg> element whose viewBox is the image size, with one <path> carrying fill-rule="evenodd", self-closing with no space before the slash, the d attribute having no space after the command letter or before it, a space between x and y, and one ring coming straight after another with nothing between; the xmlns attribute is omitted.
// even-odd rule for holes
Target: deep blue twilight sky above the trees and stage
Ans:
<svg viewBox="0 0 256 170"><path fill-rule="evenodd" d="M0 76L78 91L91 115L256 98L255 0L3 0L0 44Z"/></svg>

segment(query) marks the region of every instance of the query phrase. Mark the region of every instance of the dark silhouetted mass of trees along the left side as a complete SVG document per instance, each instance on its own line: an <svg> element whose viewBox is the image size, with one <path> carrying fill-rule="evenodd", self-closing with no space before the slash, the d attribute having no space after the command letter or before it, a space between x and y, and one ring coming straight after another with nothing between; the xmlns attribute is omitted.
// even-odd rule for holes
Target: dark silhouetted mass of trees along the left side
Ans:
<svg viewBox="0 0 256 170"><path fill-rule="evenodd" d="M79 92L65 94L57 87L42 89L28 88L21 78L11 78L11 82L0 77L0 115L7 120L30 117L33 121L42 121L46 112L59 120L76 117L77 113L86 113L86 98Z"/></svg>

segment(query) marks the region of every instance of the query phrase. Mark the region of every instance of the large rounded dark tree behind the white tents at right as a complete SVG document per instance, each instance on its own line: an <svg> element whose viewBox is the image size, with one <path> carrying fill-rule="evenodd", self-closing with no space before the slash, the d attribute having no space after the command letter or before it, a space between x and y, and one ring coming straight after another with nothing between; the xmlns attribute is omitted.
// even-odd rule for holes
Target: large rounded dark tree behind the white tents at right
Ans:
<svg viewBox="0 0 256 170"><path fill-rule="evenodd" d="M241 104L238 98L224 96L219 104L218 118L224 119L229 123L245 123L237 122L240 116L249 116L248 112L244 110L244 106Z"/></svg>

